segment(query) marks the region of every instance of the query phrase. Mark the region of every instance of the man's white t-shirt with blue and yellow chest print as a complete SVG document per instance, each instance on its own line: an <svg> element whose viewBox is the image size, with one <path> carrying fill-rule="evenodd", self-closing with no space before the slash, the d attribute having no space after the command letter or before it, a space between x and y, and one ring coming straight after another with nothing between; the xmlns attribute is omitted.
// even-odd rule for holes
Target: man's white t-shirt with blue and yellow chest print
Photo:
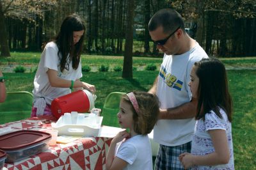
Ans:
<svg viewBox="0 0 256 170"><path fill-rule="evenodd" d="M196 61L208 58L196 43L193 49L180 55L164 54L157 83L160 108L168 109L190 102L192 94L188 83L191 68ZM154 141L165 146L178 146L192 140L195 119L158 120L154 127Z"/></svg>

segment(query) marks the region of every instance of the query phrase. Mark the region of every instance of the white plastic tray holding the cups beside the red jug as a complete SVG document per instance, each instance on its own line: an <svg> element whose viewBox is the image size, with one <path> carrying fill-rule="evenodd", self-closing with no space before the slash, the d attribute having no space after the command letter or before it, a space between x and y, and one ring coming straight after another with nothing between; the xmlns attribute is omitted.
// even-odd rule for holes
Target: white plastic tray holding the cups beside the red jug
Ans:
<svg viewBox="0 0 256 170"><path fill-rule="evenodd" d="M63 116L61 116L56 123L51 123L52 128L58 130L58 135L97 137L99 135L99 130L100 130L103 116L100 116L99 123L93 126L63 124L62 119L63 119Z"/></svg>

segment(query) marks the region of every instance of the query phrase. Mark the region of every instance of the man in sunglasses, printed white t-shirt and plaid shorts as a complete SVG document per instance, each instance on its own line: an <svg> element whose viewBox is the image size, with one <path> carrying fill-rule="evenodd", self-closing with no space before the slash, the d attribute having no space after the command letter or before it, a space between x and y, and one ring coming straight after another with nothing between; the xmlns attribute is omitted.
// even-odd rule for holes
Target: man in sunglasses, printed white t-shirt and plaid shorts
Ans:
<svg viewBox="0 0 256 170"><path fill-rule="evenodd" d="M159 10L150 19L148 31L157 49L164 52L159 75L148 91L159 97L161 105L154 127L154 141L159 143L156 169L183 169L179 155L191 151L196 112L189 75L195 61L208 56L186 33L175 10Z"/></svg>

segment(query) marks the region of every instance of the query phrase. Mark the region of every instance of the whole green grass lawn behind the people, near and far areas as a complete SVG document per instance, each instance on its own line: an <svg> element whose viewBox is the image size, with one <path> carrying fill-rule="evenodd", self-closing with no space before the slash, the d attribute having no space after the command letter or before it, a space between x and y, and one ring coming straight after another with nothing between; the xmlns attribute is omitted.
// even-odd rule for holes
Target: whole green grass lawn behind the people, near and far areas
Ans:
<svg viewBox="0 0 256 170"><path fill-rule="evenodd" d="M12 54L15 56L14 54ZM36 56L38 55L38 56ZM22 57L24 56L24 57ZM0 58L1 65L9 63L24 63L36 65L39 62L39 53L20 54L14 58ZM221 59L225 65L255 66L255 58ZM145 63L159 65L161 58L134 58L134 65ZM100 65L122 65L122 57L111 56L84 56L83 62ZM112 91L147 91L158 71L136 71L133 79L122 79L122 72L83 72L82 81L94 84L97 89L95 107L102 108L106 96ZM29 91L33 89L35 73L4 73L7 91ZM230 93L234 102L232 121L232 135L236 169L256 169L256 70L228 70Z"/></svg>

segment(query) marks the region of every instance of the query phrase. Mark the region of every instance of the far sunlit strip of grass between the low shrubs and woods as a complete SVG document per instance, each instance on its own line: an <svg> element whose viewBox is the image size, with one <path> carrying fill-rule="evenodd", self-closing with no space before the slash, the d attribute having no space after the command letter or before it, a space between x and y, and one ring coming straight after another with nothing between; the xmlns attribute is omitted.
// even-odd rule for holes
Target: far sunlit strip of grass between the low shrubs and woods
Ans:
<svg viewBox="0 0 256 170"><path fill-rule="evenodd" d="M40 52L11 52L12 57L0 58L0 66L24 65L29 68L26 72L33 72L40 61ZM100 66L102 64L113 66L123 66L123 56L95 56L86 55L81 56L82 65ZM162 58L148 58L148 57L133 57L133 66L144 67L151 63L157 66L161 64ZM220 58L220 60L228 67L244 66L256 68L256 58Z"/></svg>

